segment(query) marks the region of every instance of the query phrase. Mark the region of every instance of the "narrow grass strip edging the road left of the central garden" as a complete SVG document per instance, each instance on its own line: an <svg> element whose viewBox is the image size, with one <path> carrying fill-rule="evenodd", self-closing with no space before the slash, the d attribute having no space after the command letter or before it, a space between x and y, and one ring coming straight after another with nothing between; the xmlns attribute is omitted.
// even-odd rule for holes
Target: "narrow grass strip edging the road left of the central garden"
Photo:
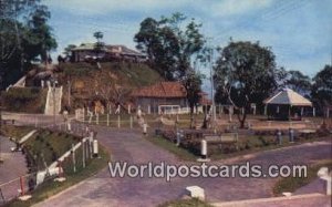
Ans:
<svg viewBox="0 0 332 207"><path fill-rule="evenodd" d="M162 138L160 136L147 136L147 141L152 142L153 144L175 154L178 158L184 161L196 161L196 156L188 152L185 148L177 147L174 143Z"/></svg>

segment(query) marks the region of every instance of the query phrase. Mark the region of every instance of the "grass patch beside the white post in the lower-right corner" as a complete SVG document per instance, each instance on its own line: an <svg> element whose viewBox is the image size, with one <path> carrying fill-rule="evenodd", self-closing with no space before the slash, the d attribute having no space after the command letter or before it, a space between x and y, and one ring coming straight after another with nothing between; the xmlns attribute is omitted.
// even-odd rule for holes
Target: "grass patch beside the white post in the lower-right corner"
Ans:
<svg viewBox="0 0 332 207"><path fill-rule="evenodd" d="M273 195L280 196L283 192L293 193L302 186L308 185L312 180L314 180L318 176L317 173L321 167L329 167L329 170L332 169L332 159L321 161L318 164L308 167L307 177L287 177L280 178L274 187Z"/></svg>

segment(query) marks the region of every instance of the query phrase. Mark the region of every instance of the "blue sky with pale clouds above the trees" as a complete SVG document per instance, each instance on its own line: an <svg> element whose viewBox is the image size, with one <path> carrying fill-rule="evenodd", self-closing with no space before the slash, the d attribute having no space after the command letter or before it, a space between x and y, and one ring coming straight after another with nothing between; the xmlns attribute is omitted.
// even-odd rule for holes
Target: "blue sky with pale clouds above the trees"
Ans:
<svg viewBox="0 0 332 207"><path fill-rule="evenodd" d="M278 66L314 76L332 64L331 0L44 0L58 40L56 56L68 44L95 42L135 49L133 38L148 17L181 12L203 23L212 46L230 41L259 41L271 46ZM206 69L201 71L208 74Z"/></svg>

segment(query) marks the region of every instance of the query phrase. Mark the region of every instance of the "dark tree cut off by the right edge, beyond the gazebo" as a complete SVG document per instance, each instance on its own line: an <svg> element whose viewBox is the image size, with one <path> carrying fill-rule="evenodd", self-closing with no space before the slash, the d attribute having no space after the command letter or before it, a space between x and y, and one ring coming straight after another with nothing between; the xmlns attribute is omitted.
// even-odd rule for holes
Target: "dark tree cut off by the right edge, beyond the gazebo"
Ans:
<svg viewBox="0 0 332 207"><path fill-rule="evenodd" d="M325 65L315 74L311 96L314 104L320 108L332 104L332 65Z"/></svg>

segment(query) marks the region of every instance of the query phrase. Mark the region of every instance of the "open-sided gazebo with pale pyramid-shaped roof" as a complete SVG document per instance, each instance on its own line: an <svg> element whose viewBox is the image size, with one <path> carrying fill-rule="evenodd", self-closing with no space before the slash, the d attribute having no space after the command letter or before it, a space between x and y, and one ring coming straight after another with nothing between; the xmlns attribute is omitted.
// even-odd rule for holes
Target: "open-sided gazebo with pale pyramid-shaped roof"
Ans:
<svg viewBox="0 0 332 207"><path fill-rule="evenodd" d="M269 113L269 115L272 114L274 117L281 120L290 120L292 111L299 108L301 110L300 116L298 113L294 113L294 118L301 118L304 107L312 107L312 103L309 100L290 89L278 92L276 95L264 100L263 103L266 104L266 115L270 106L272 113Z"/></svg>

